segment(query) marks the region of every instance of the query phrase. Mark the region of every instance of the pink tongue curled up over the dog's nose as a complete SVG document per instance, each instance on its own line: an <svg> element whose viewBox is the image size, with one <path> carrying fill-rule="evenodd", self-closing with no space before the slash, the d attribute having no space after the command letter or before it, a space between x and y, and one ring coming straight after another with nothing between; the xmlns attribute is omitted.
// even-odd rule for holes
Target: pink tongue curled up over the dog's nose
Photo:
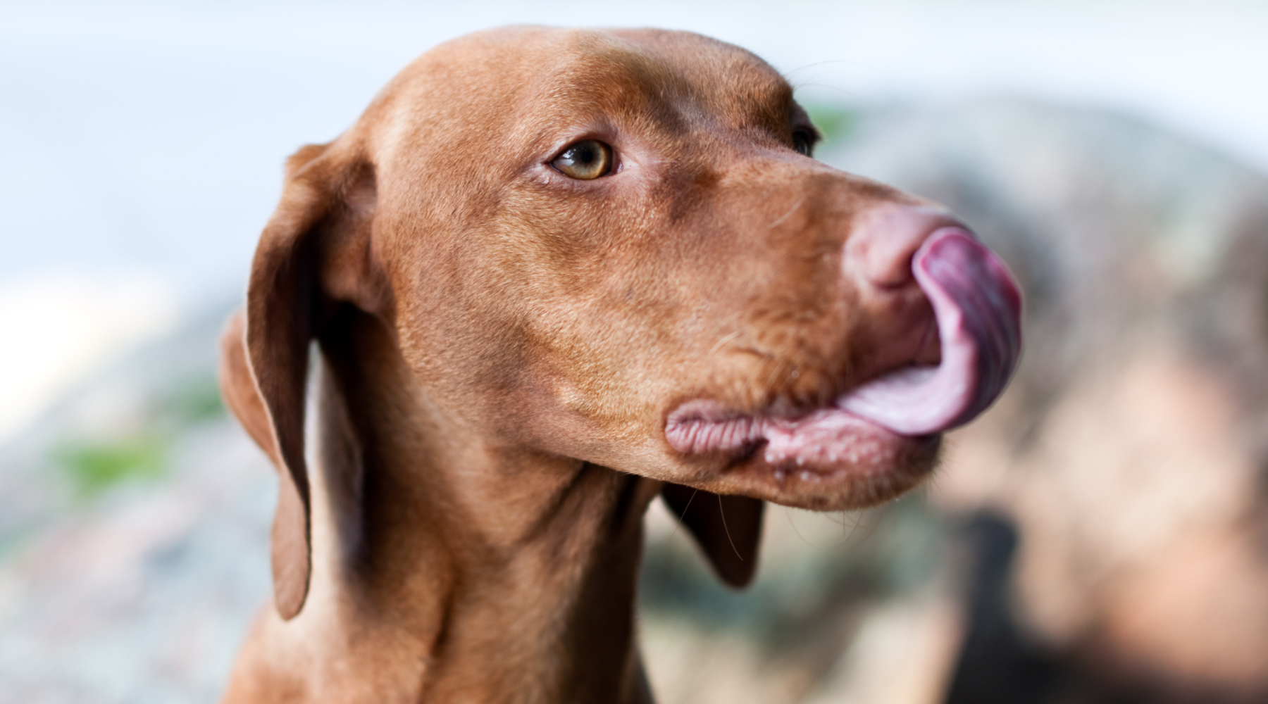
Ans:
<svg viewBox="0 0 1268 704"><path fill-rule="evenodd" d="M1022 298L1003 262L960 228L929 236L912 273L938 320L942 362L885 375L837 408L904 436L973 420L1003 393L1022 351Z"/></svg>

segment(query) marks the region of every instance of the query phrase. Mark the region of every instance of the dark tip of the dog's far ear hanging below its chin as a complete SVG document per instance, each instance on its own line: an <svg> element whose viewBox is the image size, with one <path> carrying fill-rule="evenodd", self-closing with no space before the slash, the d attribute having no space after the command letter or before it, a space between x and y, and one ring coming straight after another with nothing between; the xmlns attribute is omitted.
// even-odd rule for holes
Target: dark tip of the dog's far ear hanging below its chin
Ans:
<svg viewBox="0 0 1268 704"><path fill-rule="evenodd" d="M678 484L666 484L661 498L691 531L721 581L737 588L752 581L757 572L757 547L762 542L765 501L723 496Z"/></svg>

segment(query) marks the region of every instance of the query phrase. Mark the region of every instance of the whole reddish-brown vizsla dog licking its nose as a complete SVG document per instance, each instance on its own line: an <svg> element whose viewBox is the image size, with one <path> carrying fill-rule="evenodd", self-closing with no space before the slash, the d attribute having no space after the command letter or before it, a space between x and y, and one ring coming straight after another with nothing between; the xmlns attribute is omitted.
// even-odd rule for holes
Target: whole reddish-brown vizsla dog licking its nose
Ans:
<svg viewBox="0 0 1268 704"><path fill-rule="evenodd" d="M293 156L223 338L281 485L275 608L226 701L650 701L653 498L743 585L762 501L927 476L1003 390L1019 296L955 218L817 139L737 47L512 28Z"/></svg>

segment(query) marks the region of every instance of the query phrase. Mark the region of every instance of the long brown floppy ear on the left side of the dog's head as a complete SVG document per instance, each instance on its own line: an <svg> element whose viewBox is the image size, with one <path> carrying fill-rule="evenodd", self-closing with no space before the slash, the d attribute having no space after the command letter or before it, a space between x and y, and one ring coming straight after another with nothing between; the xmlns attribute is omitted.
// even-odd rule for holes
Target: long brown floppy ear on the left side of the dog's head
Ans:
<svg viewBox="0 0 1268 704"><path fill-rule="evenodd" d="M222 338L222 394L278 468L273 590L285 619L303 608L312 574L304 461L309 343L340 301L364 303L353 289L374 289L364 261L373 171L331 149L308 146L288 160L281 203L251 265L245 315L235 315Z"/></svg>

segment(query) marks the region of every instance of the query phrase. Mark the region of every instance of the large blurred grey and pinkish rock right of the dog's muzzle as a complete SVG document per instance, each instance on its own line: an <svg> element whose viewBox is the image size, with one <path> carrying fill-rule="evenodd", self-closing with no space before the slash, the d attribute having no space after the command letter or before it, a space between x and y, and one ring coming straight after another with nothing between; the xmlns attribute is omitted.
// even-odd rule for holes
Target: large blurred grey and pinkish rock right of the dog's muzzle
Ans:
<svg viewBox="0 0 1268 704"><path fill-rule="evenodd" d="M1018 541L948 701L1268 700L1268 179L1007 99L864 113L824 158L947 204L1026 291L931 495Z"/></svg>

